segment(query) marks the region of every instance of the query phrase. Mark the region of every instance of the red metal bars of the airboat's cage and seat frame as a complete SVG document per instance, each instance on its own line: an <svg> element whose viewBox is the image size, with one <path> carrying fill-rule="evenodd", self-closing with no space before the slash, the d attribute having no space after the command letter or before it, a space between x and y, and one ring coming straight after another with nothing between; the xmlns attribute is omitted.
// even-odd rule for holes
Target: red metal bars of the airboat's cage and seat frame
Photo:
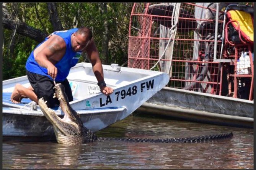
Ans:
<svg viewBox="0 0 256 170"><path fill-rule="evenodd" d="M164 44L167 44L170 37L167 37L168 28L163 25L160 26L159 23L170 22L171 16L163 16L156 14L148 14L150 10L165 10L158 6L152 5L156 3L134 3L132 8L130 24L129 24L129 51L128 51L128 67L150 69L162 56ZM159 4L159 3L158 3ZM161 9L160 9L161 8ZM208 10L206 6L196 5L196 3L181 3L180 7L183 11L187 11L186 16L189 14L194 15L196 10L204 9ZM215 9L211 9L216 12ZM166 11L169 13L170 11ZM220 13L224 13L220 11ZM160 17L159 17L160 16ZM158 21L157 19L161 19ZM237 21L227 21L225 24L225 41L224 41L224 53L222 54L223 59L232 59L234 63L221 63L220 61L214 61L213 56L207 61L204 60L207 54L207 47L214 43L213 39L207 38L195 38L194 29L189 30L190 26L193 26L193 22L204 22L204 23L214 23L214 19L209 18L184 18L179 16L178 30L176 32L176 37L174 38L173 46L173 58L168 59L166 55L170 52L166 50L165 55L161 58L161 62L172 61L172 70L170 72L170 83L168 84L173 88L186 89L185 85L191 85L190 90L201 91L203 93L209 93L214 95L222 95L223 79L225 79L223 73L223 66L228 67L228 77L229 80L233 79L234 85L231 89L231 82L225 84L227 86L230 94L233 90L233 97L237 97L238 90L238 79L241 77L248 77L251 79L249 100L253 100L253 61L252 61L252 49L251 44L245 42L241 38L240 25ZM234 44L228 40L228 25L236 22L238 24L238 34L241 39L241 44ZM218 20L219 25L223 25L223 20ZM167 25L167 24L166 24ZM133 29L136 27L137 29ZM215 32L215 27L205 27L202 30L205 33ZM161 35L160 35L161 34ZM214 35L214 34L213 34ZM205 35L206 37L206 35ZM195 42L195 43L194 43ZM197 42L197 43L196 43ZM193 47L198 45L197 58L194 56ZM217 40L217 49L220 49L222 45L221 40ZM161 48L160 48L161 47ZM228 49L235 48L235 52L228 52ZM241 49L245 48L249 51L250 61L251 61L251 73L249 75L236 74L237 59ZM213 54L212 51L208 54ZM220 56L220 50L217 50L217 56ZM207 66L205 65L207 64ZM158 69L161 71L163 64L158 65ZM207 68L207 72L202 72L203 68ZM188 70L186 72L185 70ZM233 73L234 72L234 73ZM198 79L202 76L202 79ZM233 78L232 78L233 77ZM196 83L196 85L194 84Z"/></svg>

